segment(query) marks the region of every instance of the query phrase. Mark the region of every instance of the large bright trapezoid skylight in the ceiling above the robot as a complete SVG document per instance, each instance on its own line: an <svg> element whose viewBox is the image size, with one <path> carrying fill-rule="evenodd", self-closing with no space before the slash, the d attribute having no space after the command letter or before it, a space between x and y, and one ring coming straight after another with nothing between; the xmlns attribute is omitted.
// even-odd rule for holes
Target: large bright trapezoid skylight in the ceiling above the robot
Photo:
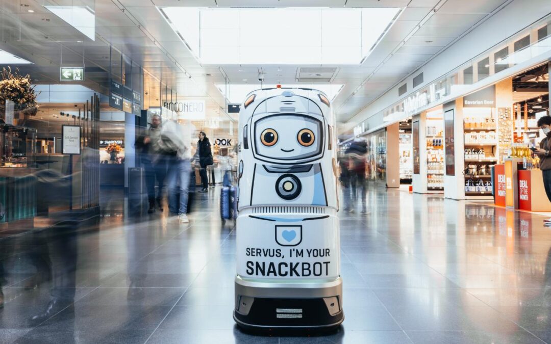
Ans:
<svg viewBox="0 0 551 344"><path fill-rule="evenodd" d="M399 8L159 7L201 64L360 64Z"/></svg>

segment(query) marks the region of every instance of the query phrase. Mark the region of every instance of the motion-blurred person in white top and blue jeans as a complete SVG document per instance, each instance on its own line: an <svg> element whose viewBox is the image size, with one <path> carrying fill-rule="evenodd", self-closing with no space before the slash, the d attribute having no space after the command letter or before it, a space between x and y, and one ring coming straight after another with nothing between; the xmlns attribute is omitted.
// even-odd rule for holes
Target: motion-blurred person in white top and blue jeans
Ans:
<svg viewBox="0 0 551 344"><path fill-rule="evenodd" d="M187 200L191 173L191 135L193 125L184 126L168 121L161 130L159 146L169 156L166 184L169 193L169 210L177 214L181 223L188 223Z"/></svg>

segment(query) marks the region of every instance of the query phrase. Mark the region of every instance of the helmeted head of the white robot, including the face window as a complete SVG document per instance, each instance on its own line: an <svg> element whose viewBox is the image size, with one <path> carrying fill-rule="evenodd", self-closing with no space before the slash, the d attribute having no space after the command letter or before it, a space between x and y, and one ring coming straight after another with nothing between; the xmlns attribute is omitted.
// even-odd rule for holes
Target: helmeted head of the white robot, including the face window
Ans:
<svg viewBox="0 0 551 344"><path fill-rule="evenodd" d="M327 97L317 90L272 89L250 94L241 107L244 149L256 159L300 164L323 157L329 126Z"/></svg>

